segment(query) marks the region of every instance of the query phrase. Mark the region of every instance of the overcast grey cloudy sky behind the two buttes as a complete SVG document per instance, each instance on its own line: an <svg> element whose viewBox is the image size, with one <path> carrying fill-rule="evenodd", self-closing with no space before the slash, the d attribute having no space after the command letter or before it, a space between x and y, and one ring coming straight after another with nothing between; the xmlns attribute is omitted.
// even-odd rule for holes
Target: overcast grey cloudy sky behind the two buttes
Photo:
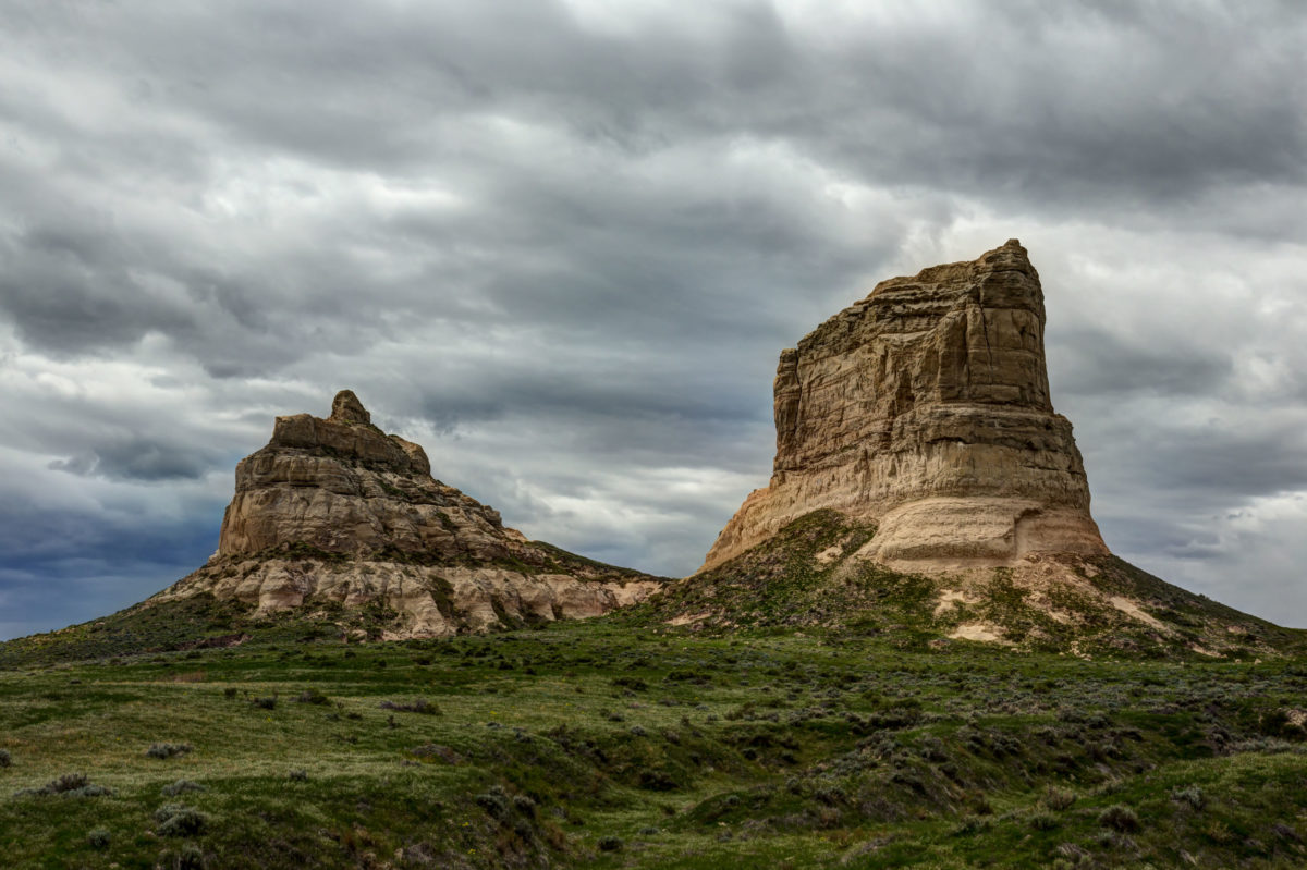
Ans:
<svg viewBox="0 0 1307 870"><path fill-rule="evenodd" d="M203 563L353 388L693 571L782 347L1019 238L1124 558L1307 626L1307 7L0 0L0 637Z"/></svg>

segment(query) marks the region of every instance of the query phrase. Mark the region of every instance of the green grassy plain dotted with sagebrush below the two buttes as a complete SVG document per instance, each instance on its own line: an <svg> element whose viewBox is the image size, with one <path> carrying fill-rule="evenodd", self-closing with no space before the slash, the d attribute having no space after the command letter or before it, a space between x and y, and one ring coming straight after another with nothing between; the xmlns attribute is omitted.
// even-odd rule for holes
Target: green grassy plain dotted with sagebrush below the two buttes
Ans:
<svg viewBox="0 0 1307 870"><path fill-rule="evenodd" d="M1307 865L1298 658L618 619L393 644L282 620L169 652L88 632L60 649L91 661L0 645L3 866Z"/></svg>

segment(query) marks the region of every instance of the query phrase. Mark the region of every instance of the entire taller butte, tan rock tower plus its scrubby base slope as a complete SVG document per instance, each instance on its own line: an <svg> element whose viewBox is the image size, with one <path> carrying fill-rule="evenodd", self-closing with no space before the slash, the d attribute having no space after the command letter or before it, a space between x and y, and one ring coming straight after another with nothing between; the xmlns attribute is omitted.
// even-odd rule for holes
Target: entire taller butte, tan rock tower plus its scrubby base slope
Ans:
<svg viewBox="0 0 1307 870"><path fill-rule="evenodd" d="M782 351L775 418L770 485L651 602L665 620L908 627L1073 654L1295 643L1108 553L1016 239L882 281Z"/></svg>

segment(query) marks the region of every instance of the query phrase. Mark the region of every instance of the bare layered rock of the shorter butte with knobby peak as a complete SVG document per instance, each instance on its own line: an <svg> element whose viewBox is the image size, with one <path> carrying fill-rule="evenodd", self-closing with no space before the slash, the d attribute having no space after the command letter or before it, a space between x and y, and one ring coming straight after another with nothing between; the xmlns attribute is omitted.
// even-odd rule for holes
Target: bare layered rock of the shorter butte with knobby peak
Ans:
<svg viewBox="0 0 1307 870"><path fill-rule="evenodd" d="M327 419L277 418L268 445L237 465L218 551L156 600L375 605L393 611L388 637L420 637L593 617L660 585L506 528L344 391Z"/></svg>

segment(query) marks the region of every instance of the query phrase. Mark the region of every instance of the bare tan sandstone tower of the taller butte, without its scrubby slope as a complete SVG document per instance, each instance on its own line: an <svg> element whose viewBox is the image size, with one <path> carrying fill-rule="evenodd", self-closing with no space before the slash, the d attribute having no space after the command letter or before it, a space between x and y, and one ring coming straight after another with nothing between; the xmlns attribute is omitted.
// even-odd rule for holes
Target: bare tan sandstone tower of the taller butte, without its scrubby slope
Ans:
<svg viewBox="0 0 1307 870"><path fill-rule="evenodd" d="M1107 554L1070 422L1053 411L1039 273L1016 239L876 285L783 350L771 482L702 571L822 508L874 521L901 568Z"/></svg>

